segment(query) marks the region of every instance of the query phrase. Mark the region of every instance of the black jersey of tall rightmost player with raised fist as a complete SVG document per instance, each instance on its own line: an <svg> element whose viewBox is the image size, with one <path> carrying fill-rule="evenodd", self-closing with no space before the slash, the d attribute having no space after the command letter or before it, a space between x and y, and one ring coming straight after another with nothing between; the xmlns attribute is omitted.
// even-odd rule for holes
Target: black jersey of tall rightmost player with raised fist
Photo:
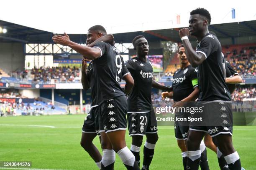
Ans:
<svg viewBox="0 0 256 170"><path fill-rule="evenodd" d="M205 60L197 67L200 90L198 100L230 101L230 92L225 83L226 70L221 45L217 37L209 33L206 34L197 45L196 52L205 56Z"/></svg>

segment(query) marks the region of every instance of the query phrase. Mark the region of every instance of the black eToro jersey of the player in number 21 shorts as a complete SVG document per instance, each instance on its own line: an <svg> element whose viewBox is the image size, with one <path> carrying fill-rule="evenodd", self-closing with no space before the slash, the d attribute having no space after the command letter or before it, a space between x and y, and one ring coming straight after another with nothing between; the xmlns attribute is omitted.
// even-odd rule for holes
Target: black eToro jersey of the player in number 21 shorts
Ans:
<svg viewBox="0 0 256 170"><path fill-rule="evenodd" d="M134 86L128 95L128 112L149 112L151 110L151 88L153 80L152 63L141 61L138 57L125 62L131 73Z"/></svg>

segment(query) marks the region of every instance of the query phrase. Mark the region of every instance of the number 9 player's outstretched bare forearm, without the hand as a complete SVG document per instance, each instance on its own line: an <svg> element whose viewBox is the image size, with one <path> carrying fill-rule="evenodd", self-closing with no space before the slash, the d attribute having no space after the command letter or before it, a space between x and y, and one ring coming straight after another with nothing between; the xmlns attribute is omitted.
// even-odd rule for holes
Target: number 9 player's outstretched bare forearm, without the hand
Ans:
<svg viewBox="0 0 256 170"><path fill-rule="evenodd" d="M67 46L79 52L83 56L86 56L85 58L89 60L95 60L96 58L100 57L100 54L101 54L98 48L83 46L73 41L69 41L67 43Z"/></svg>

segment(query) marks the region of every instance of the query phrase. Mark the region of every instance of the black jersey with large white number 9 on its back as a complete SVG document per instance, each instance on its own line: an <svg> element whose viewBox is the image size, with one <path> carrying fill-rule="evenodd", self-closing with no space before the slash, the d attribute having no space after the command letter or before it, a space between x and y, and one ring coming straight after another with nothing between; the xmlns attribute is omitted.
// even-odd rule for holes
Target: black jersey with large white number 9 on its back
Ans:
<svg viewBox="0 0 256 170"><path fill-rule="evenodd" d="M100 105L114 97L125 95L119 85L120 81L118 82L118 75L122 73L123 64L118 51L109 43L97 42L94 48L100 49L101 52L100 57L92 60L96 101Z"/></svg>

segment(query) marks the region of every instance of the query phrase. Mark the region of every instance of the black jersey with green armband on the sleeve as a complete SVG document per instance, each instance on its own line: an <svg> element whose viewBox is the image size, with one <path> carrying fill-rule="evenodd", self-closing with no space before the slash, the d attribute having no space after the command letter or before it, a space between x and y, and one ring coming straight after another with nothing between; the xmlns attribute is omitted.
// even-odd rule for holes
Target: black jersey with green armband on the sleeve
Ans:
<svg viewBox="0 0 256 170"><path fill-rule="evenodd" d="M172 79L173 100L180 101L189 96L197 87L197 69L189 65L174 72Z"/></svg>

